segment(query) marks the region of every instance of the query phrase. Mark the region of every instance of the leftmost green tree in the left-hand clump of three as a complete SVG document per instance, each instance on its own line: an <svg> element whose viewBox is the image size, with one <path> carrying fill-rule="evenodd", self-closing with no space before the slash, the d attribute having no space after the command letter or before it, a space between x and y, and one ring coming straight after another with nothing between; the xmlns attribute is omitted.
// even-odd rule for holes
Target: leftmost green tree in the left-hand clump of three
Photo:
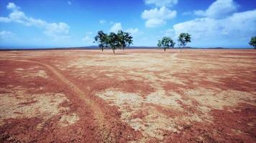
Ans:
<svg viewBox="0 0 256 143"><path fill-rule="evenodd" d="M103 51L109 47L109 36L104 34L104 31L98 31L98 34L94 37L94 42L99 43L99 48Z"/></svg>

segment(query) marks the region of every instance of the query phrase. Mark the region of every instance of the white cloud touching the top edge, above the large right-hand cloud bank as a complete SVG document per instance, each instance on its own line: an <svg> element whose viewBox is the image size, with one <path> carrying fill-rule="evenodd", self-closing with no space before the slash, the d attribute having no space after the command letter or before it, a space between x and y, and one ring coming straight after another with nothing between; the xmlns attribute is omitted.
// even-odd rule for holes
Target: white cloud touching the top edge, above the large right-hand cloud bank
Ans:
<svg viewBox="0 0 256 143"><path fill-rule="evenodd" d="M198 16L207 16L209 18L224 18L236 11L237 8L238 4L233 0L216 0L208 9L206 9L206 11L197 10L194 11L194 14Z"/></svg>

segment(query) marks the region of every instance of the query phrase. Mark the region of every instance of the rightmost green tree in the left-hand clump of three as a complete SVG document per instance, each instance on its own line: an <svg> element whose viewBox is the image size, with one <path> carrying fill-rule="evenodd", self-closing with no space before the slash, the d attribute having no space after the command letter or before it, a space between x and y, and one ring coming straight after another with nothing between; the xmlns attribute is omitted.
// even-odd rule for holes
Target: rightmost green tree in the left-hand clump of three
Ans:
<svg viewBox="0 0 256 143"><path fill-rule="evenodd" d="M130 46L132 44L132 36L130 36L128 32L119 30L117 32L117 36L119 39L119 44L123 50L125 47Z"/></svg>

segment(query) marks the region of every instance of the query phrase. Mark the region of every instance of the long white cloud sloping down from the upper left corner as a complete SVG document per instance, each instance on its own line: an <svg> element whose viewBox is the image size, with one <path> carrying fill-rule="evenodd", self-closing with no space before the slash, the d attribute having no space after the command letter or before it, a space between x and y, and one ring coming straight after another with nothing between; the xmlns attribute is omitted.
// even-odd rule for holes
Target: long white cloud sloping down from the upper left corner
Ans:
<svg viewBox="0 0 256 143"><path fill-rule="evenodd" d="M55 40L69 37L68 31L70 26L68 26L68 24L63 22L48 23L42 19L34 19L33 17L24 14L23 11L20 11L19 6L16 6L14 3L9 3L6 8L10 9L12 12L7 17L0 17L0 22L15 22L25 26L37 26L39 28L45 29L44 33L47 36L51 36Z"/></svg>

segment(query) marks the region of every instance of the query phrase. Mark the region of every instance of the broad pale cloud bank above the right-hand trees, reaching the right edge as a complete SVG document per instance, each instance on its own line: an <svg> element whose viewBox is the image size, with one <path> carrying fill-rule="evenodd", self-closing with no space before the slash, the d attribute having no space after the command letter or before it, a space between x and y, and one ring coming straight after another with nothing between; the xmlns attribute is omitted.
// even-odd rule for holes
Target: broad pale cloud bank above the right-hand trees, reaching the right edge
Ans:
<svg viewBox="0 0 256 143"><path fill-rule="evenodd" d="M175 36L188 32L195 41L239 41L256 33L256 9L232 14L223 19L211 17L175 24ZM218 42L221 44L221 42Z"/></svg>

